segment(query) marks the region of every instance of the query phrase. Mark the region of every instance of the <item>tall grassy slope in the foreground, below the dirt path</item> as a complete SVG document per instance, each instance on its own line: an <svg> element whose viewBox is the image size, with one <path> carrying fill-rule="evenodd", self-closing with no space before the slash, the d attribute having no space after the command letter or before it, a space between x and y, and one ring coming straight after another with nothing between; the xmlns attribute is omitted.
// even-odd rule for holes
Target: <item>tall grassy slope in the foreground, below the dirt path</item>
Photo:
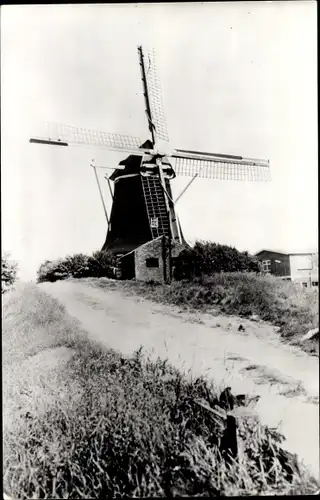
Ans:
<svg viewBox="0 0 320 500"><path fill-rule="evenodd" d="M39 412L21 413L4 431L4 486L15 498L308 493L317 483L281 450L277 435L250 422L239 429L240 463L217 451L219 430L193 404L214 387L188 381L165 361L124 359L90 343L54 299L20 287L3 304L4 372L33 366L40 354L72 348L66 363L42 366ZM21 347L22 346L22 347ZM53 351L53 349L56 349ZM59 351L60 352L60 351ZM53 390L53 380L55 387ZM14 380L11 380L13 383ZM33 381L16 381L22 390ZM8 396L9 398L9 396ZM4 406L7 400L4 398ZM290 468L293 469L293 472Z"/></svg>

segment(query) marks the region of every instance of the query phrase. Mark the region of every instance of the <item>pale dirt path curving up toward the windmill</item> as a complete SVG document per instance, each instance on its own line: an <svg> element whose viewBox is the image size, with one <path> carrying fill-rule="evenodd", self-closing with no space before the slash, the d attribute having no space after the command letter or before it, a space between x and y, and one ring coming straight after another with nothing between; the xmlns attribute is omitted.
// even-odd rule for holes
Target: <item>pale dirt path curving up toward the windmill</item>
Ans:
<svg viewBox="0 0 320 500"><path fill-rule="evenodd" d="M179 312L120 291L75 281L43 283L92 339L130 355L141 345L180 369L204 373L235 393L260 394L261 421L319 477L319 363L279 342L273 327L236 317ZM242 323L245 332L238 332Z"/></svg>

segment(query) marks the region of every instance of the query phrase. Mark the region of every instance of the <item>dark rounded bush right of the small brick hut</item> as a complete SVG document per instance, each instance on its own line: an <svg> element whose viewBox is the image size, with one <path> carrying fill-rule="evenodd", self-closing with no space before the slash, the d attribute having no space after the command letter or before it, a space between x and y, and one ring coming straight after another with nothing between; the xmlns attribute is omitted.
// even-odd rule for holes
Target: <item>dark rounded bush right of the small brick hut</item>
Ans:
<svg viewBox="0 0 320 500"><path fill-rule="evenodd" d="M175 262L175 279L191 279L220 272L259 272L259 261L236 248L197 241L183 250Z"/></svg>

